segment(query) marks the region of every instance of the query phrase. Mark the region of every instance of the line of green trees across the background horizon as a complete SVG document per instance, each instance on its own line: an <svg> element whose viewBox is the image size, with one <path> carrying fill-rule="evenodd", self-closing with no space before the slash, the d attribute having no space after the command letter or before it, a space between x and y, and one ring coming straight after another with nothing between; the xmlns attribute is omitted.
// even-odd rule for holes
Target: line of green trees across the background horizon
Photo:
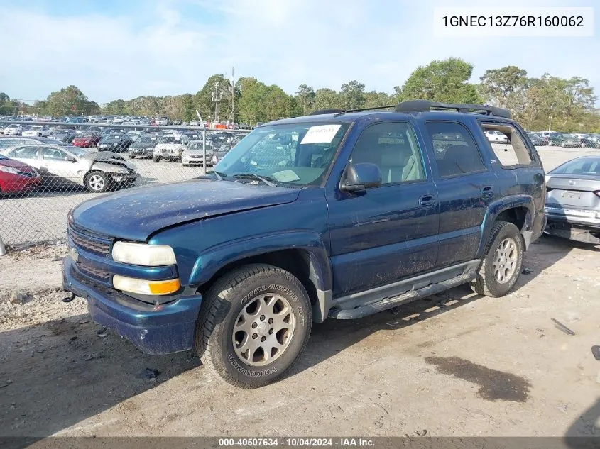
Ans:
<svg viewBox="0 0 600 449"><path fill-rule="evenodd" d="M398 104L408 99L428 99L501 106L509 109L513 118L531 130L551 127L560 131L600 132L596 94L587 79L564 79L547 73L539 78L528 77L524 69L508 66L486 70L479 83L471 83L472 72L473 65L458 58L434 60L418 67L390 94L366 91L365 84L356 80L342 84L339 90L315 90L300 84L296 92L287 94L275 84L269 86L253 77L240 78L231 85L222 74L214 74L195 94L139 96L129 100L116 99L102 106L89 100L77 87L68 86L33 105L11 100L7 94L0 93L0 113L55 117L103 113L169 116L190 121L197 118L196 111L199 111L204 120L253 124L306 115L315 109L361 109ZM216 90L221 98L218 111L214 104Z"/></svg>

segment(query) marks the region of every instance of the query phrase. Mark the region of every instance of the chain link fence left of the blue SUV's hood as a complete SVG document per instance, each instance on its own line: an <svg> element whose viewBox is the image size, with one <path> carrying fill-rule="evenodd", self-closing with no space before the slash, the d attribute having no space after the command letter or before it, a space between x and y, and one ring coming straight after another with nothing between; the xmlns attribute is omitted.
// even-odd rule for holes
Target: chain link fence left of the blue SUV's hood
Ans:
<svg viewBox="0 0 600 449"><path fill-rule="evenodd" d="M248 130L0 118L0 238L64 241L67 213L105 192L198 177Z"/></svg>

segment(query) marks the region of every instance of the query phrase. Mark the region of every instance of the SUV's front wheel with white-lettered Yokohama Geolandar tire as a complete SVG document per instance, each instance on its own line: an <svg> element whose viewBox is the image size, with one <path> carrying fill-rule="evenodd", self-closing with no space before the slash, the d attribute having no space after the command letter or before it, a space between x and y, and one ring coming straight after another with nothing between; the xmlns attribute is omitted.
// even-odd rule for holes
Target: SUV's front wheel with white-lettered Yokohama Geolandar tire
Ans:
<svg viewBox="0 0 600 449"><path fill-rule="evenodd" d="M226 382L262 387L298 361L311 324L310 299L295 276L272 265L246 265L204 296L196 350Z"/></svg>

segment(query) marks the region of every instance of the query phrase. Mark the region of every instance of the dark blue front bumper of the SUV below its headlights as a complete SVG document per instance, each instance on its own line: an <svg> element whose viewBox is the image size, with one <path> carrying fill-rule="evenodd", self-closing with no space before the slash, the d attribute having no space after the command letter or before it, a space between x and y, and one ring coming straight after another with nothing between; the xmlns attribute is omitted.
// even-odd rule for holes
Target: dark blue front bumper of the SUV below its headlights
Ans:
<svg viewBox="0 0 600 449"><path fill-rule="evenodd" d="M96 323L114 329L144 353L176 353L194 345L200 294L148 304L88 279L70 256L62 260L62 287L87 299L87 310Z"/></svg>

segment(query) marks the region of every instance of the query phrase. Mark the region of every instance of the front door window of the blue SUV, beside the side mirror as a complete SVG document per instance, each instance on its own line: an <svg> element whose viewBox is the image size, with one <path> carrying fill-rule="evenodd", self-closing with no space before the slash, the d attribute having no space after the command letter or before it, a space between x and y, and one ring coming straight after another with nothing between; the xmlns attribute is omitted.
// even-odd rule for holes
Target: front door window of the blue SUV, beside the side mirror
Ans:
<svg viewBox="0 0 600 449"><path fill-rule="evenodd" d="M409 123L369 126L354 145L350 162L371 162L381 171L381 184L425 179L422 155Z"/></svg>

